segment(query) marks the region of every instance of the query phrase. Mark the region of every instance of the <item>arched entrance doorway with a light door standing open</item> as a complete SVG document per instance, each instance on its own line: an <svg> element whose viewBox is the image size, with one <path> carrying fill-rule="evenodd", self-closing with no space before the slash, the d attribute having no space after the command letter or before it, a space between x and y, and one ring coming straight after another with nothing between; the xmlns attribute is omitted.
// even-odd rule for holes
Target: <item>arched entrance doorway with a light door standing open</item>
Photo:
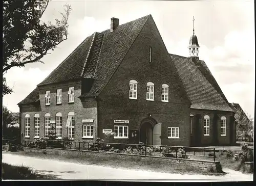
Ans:
<svg viewBox="0 0 256 186"><path fill-rule="evenodd" d="M148 117L142 120L140 125L140 142L146 145L161 144L161 123L157 123L155 119Z"/></svg>

